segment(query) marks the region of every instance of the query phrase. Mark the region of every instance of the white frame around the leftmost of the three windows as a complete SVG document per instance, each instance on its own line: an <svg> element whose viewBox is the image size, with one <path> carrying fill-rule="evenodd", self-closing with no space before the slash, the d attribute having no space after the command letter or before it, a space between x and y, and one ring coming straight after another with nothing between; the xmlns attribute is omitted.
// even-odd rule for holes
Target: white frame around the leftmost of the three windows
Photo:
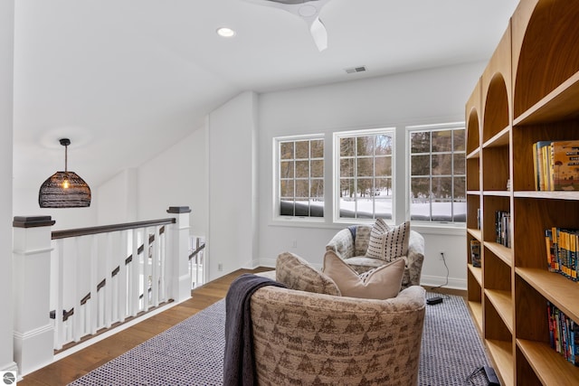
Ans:
<svg viewBox="0 0 579 386"><path fill-rule="evenodd" d="M282 142L289 142L289 141L311 141L311 140L321 140L324 143L324 175L322 180L324 181L324 216L322 217L310 217L310 216L282 216L280 215L280 143ZM285 137L273 137L272 141L272 154L273 154L273 207L272 207L272 214L273 214L273 221L305 221L305 222L314 222L314 223L321 223L325 222L327 218L327 197L326 197L326 184L327 184L327 167L326 167L326 137L324 134L308 134L308 135L298 135L298 136L285 136Z"/></svg>

